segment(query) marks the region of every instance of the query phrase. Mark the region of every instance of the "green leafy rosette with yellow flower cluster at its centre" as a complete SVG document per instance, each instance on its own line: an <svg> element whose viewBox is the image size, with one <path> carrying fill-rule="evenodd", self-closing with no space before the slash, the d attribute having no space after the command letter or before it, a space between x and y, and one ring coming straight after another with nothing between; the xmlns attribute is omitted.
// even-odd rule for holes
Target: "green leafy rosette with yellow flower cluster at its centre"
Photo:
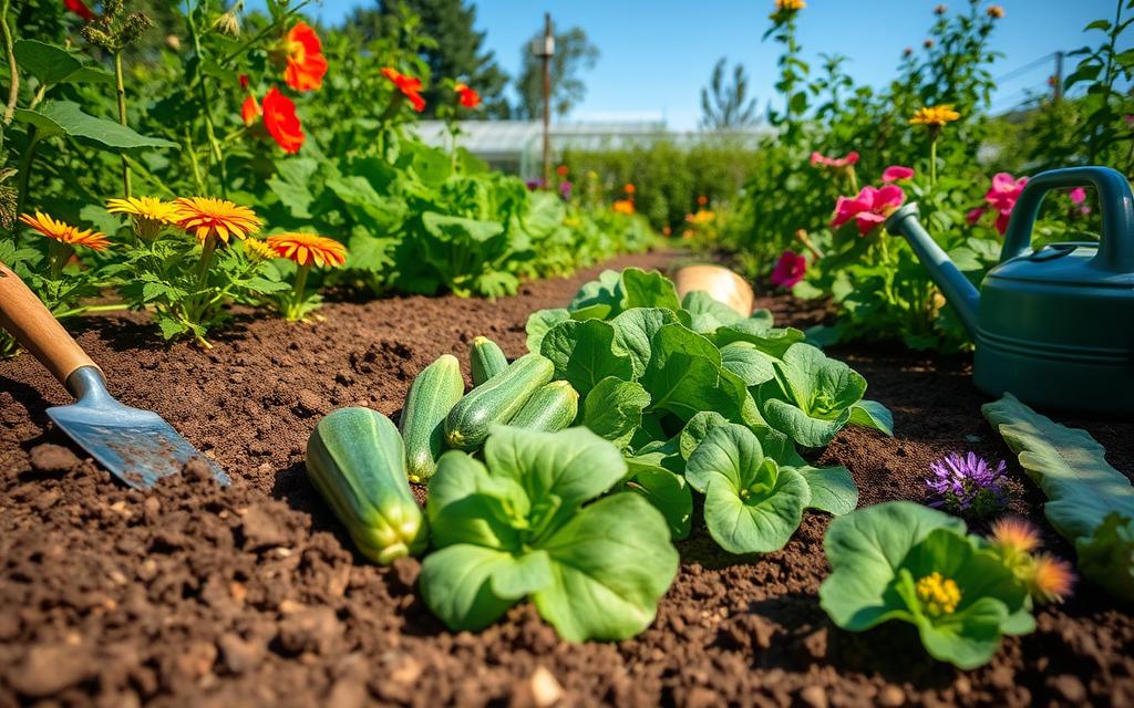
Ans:
<svg viewBox="0 0 1134 708"><path fill-rule="evenodd" d="M853 632L899 620L933 658L988 663L1004 636L1035 629L1027 589L965 522L913 502L887 502L831 522L822 608Z"/></svg>

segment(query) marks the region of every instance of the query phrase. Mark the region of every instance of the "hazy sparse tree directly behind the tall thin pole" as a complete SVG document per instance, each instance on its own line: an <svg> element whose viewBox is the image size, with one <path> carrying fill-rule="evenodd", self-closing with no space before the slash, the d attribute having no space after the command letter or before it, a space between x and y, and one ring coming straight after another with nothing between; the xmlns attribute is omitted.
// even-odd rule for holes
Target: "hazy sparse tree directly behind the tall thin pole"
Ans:
<svg viewBox="0 0 1134 708"><path fill-rule="evenodd" d="M586 39L581 27L556 33L556 53L551 57L551 112L562 118L586 95L586 84L579 78L585 69L594 68L599 48ZM516 116L528 120L543 114L543 60L532 54L532 42L543 40L543 32L532 35L524 44L524 68L516 80L519 103Z"/></svg>

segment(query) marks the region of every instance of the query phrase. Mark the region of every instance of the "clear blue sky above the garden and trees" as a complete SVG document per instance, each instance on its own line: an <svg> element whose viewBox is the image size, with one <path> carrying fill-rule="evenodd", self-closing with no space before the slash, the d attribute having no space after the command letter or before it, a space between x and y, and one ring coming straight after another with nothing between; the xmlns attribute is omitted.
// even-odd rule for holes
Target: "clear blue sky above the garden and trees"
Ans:
<svg viewBox="0 0 1134 708"><path fill-rule="evenodd" d="M322 0L312 14L336 23L350 8L372 1ZM1005 58L993 75L1014 72L1056 50L1082 46L1083 27L1111 18L1116 1L1000 0L1006 17L995 40ZM846 54L852 76L881 85L894 76L904 48L921 46L937 3L809 0L799 16L799 39L806 56ZM481 0L475 5L477 26L488 32L488 49L513 75L521 66L521 46L542 26L544 11L558 26L586 31L602 56L585 75L587 95L570 117L574 120L665 119L675 129L695 128L701 87L720 57L744 63L761 105L773 95L778 45L760 41L772 0ZM967 0L946 5L959 8ZM1005 80L993 96L993 109L1010 108L1027 88L1042 88L1051 65Z"/></svg>

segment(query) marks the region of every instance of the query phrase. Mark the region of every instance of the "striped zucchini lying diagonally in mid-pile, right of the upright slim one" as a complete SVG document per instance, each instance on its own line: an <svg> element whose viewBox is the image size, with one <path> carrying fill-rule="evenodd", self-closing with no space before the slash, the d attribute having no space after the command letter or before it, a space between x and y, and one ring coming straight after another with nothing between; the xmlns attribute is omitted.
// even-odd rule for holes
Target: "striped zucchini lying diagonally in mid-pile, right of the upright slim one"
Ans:
<svg viewBox="0 0 1134 708"><path fill-rule="evenodd" d="M445 438L449 446L477 450L489 436L489 427L511 420L527 399L551 381L553 374L555 365L549 359L528 353L469 391L445 419Z"/></svg>

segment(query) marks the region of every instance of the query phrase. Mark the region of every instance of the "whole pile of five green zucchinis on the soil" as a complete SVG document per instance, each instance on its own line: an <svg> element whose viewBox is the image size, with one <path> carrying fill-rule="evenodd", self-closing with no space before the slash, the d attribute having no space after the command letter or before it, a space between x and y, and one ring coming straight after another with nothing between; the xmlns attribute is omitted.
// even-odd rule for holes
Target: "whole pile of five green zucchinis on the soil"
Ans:
<svg viewBox="0 0 1134 708"><path fill-rule="evenodd" d="M552 382L555 367L538 353L511 364L484 336L469 348L473 389L460 364L443 355L414 379L401 425L369 408L340 408L307 441L307 475L366 557L382 564L428 544L411 481L424 484L449 449L476 452L493 425L553 433L578 415L578 393Z"/></svg>

